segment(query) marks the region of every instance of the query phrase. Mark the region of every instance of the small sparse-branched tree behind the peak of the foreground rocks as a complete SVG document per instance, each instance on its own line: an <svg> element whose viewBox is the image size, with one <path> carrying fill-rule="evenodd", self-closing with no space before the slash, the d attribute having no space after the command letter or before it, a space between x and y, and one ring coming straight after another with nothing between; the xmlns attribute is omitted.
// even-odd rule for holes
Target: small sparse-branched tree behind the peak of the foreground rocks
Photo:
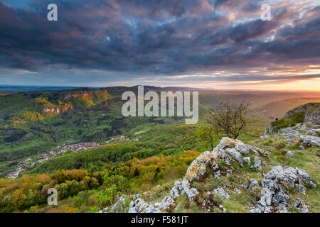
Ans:
<svg viewBox="0 0 320 227"><path fill-rule="evenodd" d="M218 138L219 132L230 138L238 138L240 131L250 123L247 118L249 106L248 101L242 101L240 104L230 104L228 101L220 103L209 110L206 121L213 126Z"/></svg>

